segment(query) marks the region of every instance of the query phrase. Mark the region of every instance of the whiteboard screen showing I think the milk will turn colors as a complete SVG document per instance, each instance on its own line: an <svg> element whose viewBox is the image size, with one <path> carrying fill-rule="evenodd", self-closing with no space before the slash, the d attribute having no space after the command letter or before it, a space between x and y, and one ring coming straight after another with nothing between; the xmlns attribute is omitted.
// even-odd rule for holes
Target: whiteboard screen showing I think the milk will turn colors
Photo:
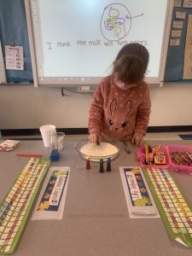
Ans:
<svg viewBox="0 0 192 256"><path fill-rule="evenodd" d="M137 42L150 55L146 81L160 84L171 16L170 0L26 0L34 82L98 84L119 49Z"/></svg>

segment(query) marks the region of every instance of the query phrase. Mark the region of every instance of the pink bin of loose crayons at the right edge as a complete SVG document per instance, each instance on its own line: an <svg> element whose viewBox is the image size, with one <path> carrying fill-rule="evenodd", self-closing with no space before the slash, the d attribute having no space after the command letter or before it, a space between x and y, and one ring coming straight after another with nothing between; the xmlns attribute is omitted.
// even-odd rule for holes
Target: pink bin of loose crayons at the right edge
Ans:
<svg viewBox="0 0 192 256"><path fill-rule="evenodd" d="M192 173L192 147L167 145L173 172Z"/></svg>

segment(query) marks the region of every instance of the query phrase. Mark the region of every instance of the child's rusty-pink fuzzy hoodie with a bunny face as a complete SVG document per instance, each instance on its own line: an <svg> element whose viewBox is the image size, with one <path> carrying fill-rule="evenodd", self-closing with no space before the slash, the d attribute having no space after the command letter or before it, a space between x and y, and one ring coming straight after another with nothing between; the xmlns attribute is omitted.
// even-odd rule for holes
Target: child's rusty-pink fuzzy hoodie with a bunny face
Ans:
<svg viewBox="0 0 192 256"><path fill-rule="evenodd" d="M150 114L148 84L122 89L113 76L102 79L90 104L89 132L119 140L146 134Z"/></svg>

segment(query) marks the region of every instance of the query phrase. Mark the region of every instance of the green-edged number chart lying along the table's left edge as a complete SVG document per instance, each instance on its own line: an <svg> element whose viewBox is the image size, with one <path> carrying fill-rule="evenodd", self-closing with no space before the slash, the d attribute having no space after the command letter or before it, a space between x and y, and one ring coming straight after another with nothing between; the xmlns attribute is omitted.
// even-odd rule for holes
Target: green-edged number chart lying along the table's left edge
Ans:
<svg viewBox="0 0 192 256"><path fill-rule="evenodd" d="M49 160L30 158L0 204L0 254L15 250L49 165Z"/></svg>

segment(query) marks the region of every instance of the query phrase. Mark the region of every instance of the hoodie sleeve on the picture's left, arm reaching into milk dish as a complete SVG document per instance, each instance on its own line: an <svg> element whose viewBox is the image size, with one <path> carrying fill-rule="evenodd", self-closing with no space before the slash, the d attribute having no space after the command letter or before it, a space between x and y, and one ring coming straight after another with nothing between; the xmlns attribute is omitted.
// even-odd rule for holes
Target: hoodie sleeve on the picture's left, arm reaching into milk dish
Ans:
<svg viewBox="0 0 192 256"><path fill-rule="evenodd" d="M92 102L90 103L89 133L102 131L103 120L103 94L102 82L97 86Z"/></svg>

